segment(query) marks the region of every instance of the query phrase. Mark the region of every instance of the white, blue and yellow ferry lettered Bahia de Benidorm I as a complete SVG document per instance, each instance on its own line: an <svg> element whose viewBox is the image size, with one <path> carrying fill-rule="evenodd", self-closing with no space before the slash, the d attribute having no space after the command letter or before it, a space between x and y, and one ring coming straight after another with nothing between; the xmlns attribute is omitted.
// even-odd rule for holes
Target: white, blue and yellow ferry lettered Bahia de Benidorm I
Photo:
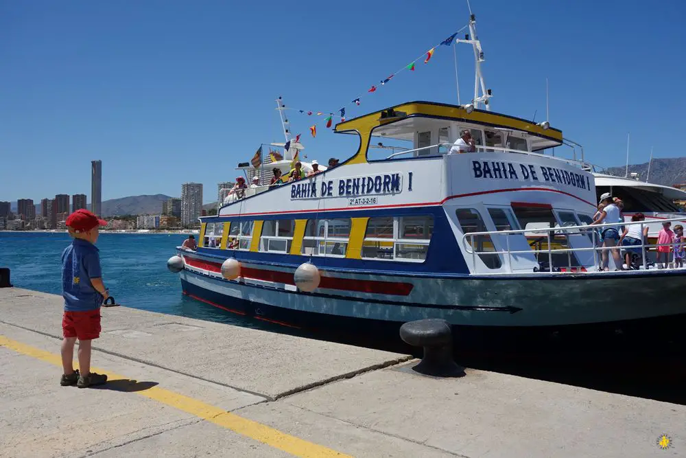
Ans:
<svg viewBox="0 0 686 458"><path fill-rule="evenodd" d="M508 329L683 317L684 269L601 271L587 227L596 177L550 154L569 144L561 130L492 111L473 15L469 27L480 82L469 104L410 101L337 124L359 139L340 165L200 218L198 249L169 262L183 293L353 332L426 318ZM451 152L464 130L479 146ZM377 139L411 147L379 155Z"/></svg>

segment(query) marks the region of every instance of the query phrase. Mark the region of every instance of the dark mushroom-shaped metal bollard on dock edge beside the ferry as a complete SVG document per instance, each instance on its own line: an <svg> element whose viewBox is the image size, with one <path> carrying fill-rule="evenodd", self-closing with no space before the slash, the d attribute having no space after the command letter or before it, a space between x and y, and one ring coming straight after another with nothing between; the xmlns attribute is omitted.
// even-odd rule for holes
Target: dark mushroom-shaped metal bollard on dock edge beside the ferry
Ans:
<svg viewBox="0 0 686 458"><path fill-rule="evenodd" d="M400 327L400 337L414 347L424 347L424 357L412 369L427 376L461 377L464 370L453 360L453 335L443 319L410 321Z"/></svg>

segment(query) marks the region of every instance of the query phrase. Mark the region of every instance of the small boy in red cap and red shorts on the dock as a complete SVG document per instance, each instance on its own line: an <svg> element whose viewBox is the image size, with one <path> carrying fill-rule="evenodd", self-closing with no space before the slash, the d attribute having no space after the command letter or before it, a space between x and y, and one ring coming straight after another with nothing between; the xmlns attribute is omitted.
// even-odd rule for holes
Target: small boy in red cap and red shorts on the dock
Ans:
<svg viewBox="0 0 686 458"><path fill-rule="evenodd" d="M66 221L74 238L62 253L62 368L63 387L103 385L107 376L91 372L91 340L100 336L100 306L108 294L102 284L100 257L95 248L99 226L107 224L90 211L74 211ZM79 339L79 368L74 370L74 343Z"/></svg>

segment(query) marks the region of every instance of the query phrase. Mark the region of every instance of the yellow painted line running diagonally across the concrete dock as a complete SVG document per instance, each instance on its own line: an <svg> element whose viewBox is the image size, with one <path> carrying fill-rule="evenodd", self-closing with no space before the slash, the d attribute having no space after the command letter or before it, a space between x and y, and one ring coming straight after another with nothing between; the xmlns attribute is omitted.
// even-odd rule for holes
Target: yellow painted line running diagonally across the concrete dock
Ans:
<svg viewBox="0 0 686 458"><path fill-rule="evenodd" d="M62 367L62 358L60 355L45 352L45 350L40 350L36 347L13 341L3 335L0 335L0 347L5 347L9 350L14 350L14 352L45 361L45 363ZM121 376L103 369L97 369L95 367L93 367L93 371L97 372L98 374L106 374L108 380L130 379L129 377ZM222 426L223 428L229 429L230 431L240 435L250 437L250 439L255 439L263 444L267 444L268 446L278 448L279 450L283 450L284 452L296 457L325 458L351 456L331 450L331 448L313 444L312 442L307 442L304 439L282 433L281 431L271 428L265 424L248 420L247 418L240 417L235 413L227 412L219 407L205 404L200 400L183 396L182 394L175 393L174 391L169 391L159 387L151 387L150 389L135 391L134 393L174 407L180 411L190 413L191 415L195 415L203 420L214 423L218 426Z"/></svg>

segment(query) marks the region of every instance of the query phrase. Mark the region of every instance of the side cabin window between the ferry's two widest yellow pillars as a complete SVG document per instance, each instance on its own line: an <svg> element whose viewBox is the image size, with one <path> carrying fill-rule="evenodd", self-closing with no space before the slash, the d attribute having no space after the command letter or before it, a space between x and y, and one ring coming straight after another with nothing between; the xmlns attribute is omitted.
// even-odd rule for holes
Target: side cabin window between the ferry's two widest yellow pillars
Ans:
<svg viewBox="0 0 686 458"><path fill-rule="evenodd" d="M350 218L307 220L303 237L303 254L345 257L350 238Z"/></svg>

